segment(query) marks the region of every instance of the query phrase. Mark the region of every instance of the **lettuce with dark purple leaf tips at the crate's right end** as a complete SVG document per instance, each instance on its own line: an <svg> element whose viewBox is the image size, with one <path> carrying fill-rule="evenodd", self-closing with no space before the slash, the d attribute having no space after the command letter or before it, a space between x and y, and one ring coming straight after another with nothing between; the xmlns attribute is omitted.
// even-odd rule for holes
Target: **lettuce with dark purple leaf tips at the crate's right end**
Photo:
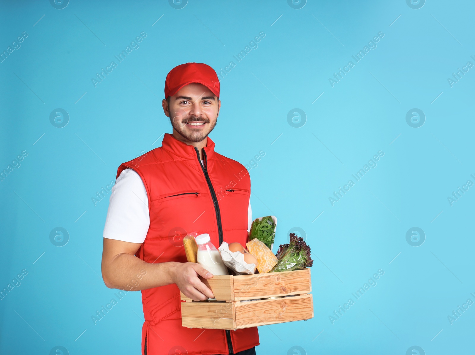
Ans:
<svg viewBox="0 0 475 355"><path fill-rule="evenodd" d="M314 263L310 257L310 247L304 238L297 237L294 233L290 234L290 243L279 245L276 257L277 264L269 272L305 269Z"/></svg>

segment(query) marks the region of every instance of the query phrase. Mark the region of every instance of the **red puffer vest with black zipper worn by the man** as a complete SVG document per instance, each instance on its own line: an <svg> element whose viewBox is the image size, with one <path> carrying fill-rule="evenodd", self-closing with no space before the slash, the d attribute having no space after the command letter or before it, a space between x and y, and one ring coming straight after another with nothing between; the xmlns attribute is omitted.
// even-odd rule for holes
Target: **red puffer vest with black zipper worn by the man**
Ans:
<svg viewBox="0 0 475 355"><path fill-rule="evenodd" d="M247 242L249 173L214 146L208 137L202 167L197 148L165 133L160 148L117 169L117 177L123 169L135 170L147 190L150 227L136 253L143 261L187 262L182 237L190 232L208 233L216 247L223 240ZM176 284L142 290L142 354L229 354L259 345L257 327L182 327L180 302Z"/></svg>

